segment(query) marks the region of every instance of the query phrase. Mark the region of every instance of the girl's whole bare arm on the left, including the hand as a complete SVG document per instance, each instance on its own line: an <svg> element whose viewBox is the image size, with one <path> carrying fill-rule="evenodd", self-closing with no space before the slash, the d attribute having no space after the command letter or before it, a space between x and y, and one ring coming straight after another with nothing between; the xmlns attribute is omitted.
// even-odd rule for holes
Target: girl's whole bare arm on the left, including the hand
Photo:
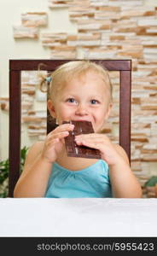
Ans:
<svg viewBox="0 0 157 256"><path fill-rule="evenodd" d="M49 132L44 143L35 143L30 148L20 179L15 186L15 197L43 197L52 164L57 159L58 154L64 145L64 137L69 131L73 131L74 125L59 125L55 130Z"/></svg>

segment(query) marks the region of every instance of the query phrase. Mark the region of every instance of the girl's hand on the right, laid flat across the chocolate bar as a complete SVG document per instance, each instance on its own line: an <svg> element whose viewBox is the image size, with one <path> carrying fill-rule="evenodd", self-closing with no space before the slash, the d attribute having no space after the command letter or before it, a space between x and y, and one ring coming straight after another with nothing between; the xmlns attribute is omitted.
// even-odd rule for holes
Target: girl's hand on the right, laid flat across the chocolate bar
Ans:
<svg viewBox="0 0 157 256"><path fill-rule="evenodd" d="M80 134L75 137L75 142L81 146L99 149L102 154L102 160L108 163L108 166L116 165L119 160L123 160L122 155L118 153L115 145L105 134L90 133Z"/></svg>

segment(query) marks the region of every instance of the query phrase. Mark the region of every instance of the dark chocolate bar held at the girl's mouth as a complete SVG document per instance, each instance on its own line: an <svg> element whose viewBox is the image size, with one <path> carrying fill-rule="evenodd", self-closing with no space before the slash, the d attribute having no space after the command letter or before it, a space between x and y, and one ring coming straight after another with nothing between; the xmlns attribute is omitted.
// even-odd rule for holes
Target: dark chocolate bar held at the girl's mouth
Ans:
<svg viewBox="0 0 157 256"><path fill-rule="evenodd" d="M67 155L73 157L101 159L100 151L96 148L79 146L75 143L75 136L79 134L93 133L93 126L89 121L64 121L63 124L74 125L73 131L69 131L68 137L65 137Z"/></svg>

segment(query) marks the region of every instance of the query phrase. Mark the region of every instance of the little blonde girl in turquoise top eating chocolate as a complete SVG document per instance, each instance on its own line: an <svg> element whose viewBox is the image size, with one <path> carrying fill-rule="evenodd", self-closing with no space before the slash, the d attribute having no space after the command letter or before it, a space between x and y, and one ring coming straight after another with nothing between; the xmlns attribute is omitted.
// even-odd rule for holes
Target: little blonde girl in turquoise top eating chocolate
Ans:
<svg viewBox="0 0 157 256"><path fill-rule="evenodd" d="M112 108L108 72L92 61L69 61L51 75L49 113L58 126L32 145L15 186L15 197L141 197L125 150L102 127ZM94 133L75 137L78 145L100 150L102 159L68 157L64 138L73 131L63 121L90 121Z"/></svg>

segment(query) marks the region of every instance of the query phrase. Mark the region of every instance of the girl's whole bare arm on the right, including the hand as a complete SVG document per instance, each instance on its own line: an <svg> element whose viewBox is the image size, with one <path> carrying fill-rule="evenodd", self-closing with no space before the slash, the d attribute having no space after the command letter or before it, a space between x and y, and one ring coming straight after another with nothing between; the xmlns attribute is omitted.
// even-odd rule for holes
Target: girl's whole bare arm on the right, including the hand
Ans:
<svg viewBox="0 0 157 256"><path fill-rule="evenodd" d="M102 160L105 160L109 166L114 197L142 197L140 183L138 183L134 173L131 172L129 160L123 148L111 143L105 134L81 134L76 136L75 140L78 145L97 148L101 151Z"/></svg>

